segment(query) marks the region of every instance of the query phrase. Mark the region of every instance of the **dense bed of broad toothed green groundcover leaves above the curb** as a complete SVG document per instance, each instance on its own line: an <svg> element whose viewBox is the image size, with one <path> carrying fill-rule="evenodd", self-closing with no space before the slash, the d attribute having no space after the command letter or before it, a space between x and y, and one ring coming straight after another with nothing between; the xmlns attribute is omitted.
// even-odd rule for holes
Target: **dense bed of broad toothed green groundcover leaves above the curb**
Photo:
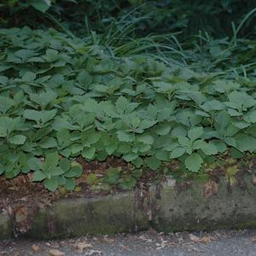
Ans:
<svg viewBox="0 0 256 256"><path fill-rule="evenodd" d="M76 159L198 173L218 154L256 153L255 80L165 65L53 29L0 30L0 175L75 188ZM106 180L114 183L116 170ZM89 183L94 183L90 176Z"/></svg>

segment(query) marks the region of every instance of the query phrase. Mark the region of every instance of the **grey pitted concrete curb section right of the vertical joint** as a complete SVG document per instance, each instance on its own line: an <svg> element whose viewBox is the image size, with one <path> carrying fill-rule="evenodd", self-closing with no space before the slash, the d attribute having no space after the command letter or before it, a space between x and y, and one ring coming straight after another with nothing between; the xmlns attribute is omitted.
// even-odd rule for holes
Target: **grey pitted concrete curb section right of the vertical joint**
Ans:
<svg viewBox="0 0 256 256"><path fill-rule="evenodd" d="M256 187L247 178L247 189L237 184L227 189L226 179L218 183L218 193L203 196L204 183L194 181L189 189L175 191L165 184L153 226L156 230L217 230L256 228Z"/></svg>

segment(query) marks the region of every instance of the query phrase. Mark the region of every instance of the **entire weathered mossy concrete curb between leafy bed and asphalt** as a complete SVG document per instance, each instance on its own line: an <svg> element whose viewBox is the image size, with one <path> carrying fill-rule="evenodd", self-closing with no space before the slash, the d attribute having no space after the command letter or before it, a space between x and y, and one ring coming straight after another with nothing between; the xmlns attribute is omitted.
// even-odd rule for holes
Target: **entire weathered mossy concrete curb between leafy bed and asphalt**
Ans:
<svg viewBox="0 0 256 256"><path fill-rule="evenodd" d="M171 182L170 182L171 181ZM152 185L148 192L136 190L97 198L62 199L40 210L26 237L49 239L135 232L154 227L159 231L256 228L256 187L236 184L228 192L225 179L218 192L203 196L204 183L194 181L177 189L175 182ZM0 212L0 239L12 237L6 212Z"/></svg>

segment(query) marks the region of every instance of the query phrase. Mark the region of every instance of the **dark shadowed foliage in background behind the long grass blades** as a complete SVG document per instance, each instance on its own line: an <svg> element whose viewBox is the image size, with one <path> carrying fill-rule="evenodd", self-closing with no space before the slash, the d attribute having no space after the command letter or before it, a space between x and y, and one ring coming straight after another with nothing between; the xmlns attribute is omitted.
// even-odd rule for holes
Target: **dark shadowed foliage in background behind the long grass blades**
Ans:
<svg viewBox="0 0 256 256"><path fill-rule="evenodd" d="M59 27L84 34L90 29L104 32L115 19L129 16L139 34L199 31L221 38L232 35L232 22L238 26L256 7L254 0L4 0L0 3L0 24L5 27ZM142 18L137 20L137 18ZM255 17L243 26L243 35L255 35ZM60 27L59 27L60 28Z"/></svg>

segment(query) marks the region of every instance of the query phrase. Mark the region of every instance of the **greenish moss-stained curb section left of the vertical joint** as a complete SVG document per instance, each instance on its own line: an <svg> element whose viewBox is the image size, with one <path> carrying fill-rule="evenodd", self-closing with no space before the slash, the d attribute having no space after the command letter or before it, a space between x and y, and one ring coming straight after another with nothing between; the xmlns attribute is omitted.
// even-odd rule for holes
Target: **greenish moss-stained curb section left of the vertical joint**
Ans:
<svg viewBox="0 0 256 256"><path fill-rule="evenodd" d="M133 196L126 192L56 201L51 212L46 210L37 215L28 236L56 238L146 230L148 219L135 208Z"/></svg>

